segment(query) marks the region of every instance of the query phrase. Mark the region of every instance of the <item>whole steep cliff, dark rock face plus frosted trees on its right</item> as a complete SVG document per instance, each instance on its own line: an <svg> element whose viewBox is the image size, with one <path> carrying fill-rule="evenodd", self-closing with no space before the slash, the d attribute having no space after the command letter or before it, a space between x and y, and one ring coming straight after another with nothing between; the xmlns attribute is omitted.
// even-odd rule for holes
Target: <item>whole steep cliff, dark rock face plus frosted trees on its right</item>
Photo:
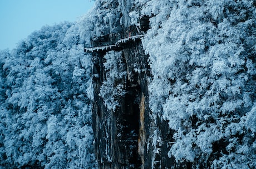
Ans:
<svg viewBox="0 0 256 169"><path fill-rule="evenodd" d="M254 168L255 2L96 2L99 168Z"/></svg>

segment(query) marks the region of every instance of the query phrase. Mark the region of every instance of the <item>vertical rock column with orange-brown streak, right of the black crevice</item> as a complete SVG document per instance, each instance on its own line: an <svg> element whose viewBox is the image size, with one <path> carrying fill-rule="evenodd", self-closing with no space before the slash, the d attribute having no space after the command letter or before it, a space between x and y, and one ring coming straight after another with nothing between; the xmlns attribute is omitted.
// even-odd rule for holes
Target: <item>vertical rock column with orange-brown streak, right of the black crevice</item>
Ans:
<svg viewBox="0 0 256 169"><path fill-rule="evenodd" d="M127 68L127 79L131 86L140 89L139 104L139 129L137 141L137 153L141 159L141 168L149 168L151 157L147 155L146 140L150 135L150 109L148 94L148 79L151 78L150 68L147 64L148 55L145 54L140 40L128 43L123 49Z"/></svg>

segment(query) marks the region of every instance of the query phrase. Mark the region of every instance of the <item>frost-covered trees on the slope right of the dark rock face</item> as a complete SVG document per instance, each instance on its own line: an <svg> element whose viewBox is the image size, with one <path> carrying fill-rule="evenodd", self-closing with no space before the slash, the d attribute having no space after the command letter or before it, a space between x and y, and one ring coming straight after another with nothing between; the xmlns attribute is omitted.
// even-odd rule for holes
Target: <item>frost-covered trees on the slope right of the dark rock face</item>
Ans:
<svg viewBox="0 0 256 169"><path fill-rule="evenodd" d="M254 168L255 1L137 3L154 15L142 43L150 108L175 131L169 156L193 168Z"/></svg>

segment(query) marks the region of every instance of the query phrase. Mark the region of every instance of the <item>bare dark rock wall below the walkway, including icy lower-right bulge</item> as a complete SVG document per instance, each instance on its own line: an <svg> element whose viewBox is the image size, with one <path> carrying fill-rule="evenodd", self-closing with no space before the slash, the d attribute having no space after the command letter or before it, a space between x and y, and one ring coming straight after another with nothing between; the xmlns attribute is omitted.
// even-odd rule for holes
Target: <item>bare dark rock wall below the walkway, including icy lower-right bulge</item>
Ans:
<svg viewBox="0 0 256 169"><path fill-rule="evenodd" d="M115 111L108 110L105 98L99 96L106 79L106 51L93 53L93 130L99 168L189 168L176 165L168 157L172 137L168 122L151 115L148 93L151 74L141 41L124 44L121 52L126 76L115 85L123 84L126 94L118 98L120 106Z"/></svg>

